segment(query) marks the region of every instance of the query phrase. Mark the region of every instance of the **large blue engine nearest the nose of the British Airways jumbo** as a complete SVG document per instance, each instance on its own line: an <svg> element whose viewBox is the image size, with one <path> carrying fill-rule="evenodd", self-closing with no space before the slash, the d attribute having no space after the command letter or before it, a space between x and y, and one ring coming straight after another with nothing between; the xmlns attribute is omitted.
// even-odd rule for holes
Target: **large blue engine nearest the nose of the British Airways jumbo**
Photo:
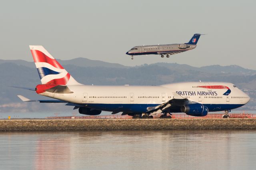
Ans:
<svg viewBox="0 0 256 170"><path fill-rule="evenodd" d="M190 116L206 116L208 113L208 108L200 103L182 106L180 110Z"/></svg>

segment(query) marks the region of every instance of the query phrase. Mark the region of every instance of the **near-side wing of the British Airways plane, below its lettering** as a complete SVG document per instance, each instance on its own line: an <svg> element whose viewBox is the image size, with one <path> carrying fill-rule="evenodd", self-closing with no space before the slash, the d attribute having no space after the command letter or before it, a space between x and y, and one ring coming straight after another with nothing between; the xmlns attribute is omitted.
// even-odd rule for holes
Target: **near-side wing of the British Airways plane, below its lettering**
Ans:
<svg viewBox="0 0 256 170"><path fill-rule="evenodd" d="M174 98L167 101L166 103L162 103L161 105L157 105L155 107L148 107L146 113L150 113L150 115L155 115L158 113L162 113L164 111L168 111L170 107L174 106L183 106L187 104L196 103L194 101L190 101L180 95L178 95L176 92L173 92Z"/></svg>

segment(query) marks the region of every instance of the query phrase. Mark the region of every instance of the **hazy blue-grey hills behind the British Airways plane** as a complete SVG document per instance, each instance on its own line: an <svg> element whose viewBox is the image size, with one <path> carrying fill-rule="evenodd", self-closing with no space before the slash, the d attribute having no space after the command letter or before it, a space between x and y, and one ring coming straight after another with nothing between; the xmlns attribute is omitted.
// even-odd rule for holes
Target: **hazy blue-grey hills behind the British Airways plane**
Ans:
<svg viewBox="0 0 256 170"><path fill-rule="evenodd" d="M251 97L247 109L256 109L256 71L237 65L192 67L178 63L144 64L127 67L115 63L76 58L59 60L65 69L80 83L87 85L161 85L187 81L225 81L235 83ZM8 86L36 87L40 84L33 62L24 60L0 60L0 113L6 111L63 109L51 104L22 103L16 95L31 99L46 99L33 91ZM19 103L19 105L13 104ZM61 106L61 105L58 105ZM72 110L72 108L71 108Z"/></svg>

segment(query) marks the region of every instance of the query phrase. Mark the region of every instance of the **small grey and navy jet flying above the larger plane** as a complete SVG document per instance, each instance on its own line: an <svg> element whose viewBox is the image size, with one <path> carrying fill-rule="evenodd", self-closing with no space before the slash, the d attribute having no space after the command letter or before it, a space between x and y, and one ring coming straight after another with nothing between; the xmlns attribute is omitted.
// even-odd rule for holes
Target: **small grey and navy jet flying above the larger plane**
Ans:
<svg viewBox="0 0 256 170"><path fill-rule="evenodd" d="M170 57L170 55L182 53L190 49L196 48L196 43L198 42L201 35L204 34L194 34L188 43L180 44L166 44L166 45L143 45L132 47L126 54L131 55L132 59L134 55L148 55L148 54L159 54L161 57Z"/></svg>

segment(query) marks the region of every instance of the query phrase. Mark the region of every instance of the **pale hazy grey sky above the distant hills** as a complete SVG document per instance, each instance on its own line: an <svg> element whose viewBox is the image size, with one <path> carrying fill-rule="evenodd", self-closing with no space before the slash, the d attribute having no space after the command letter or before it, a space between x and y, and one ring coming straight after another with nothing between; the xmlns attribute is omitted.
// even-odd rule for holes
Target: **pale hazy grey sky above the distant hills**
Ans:
<svg viewBox="0 0 256 170"><path fill-rule="evenodd" d="M0 2L0 59L32 61L28 45L55 58L76 57L123 65L180 63L256 69L254 0L9 0ZM136 45L188 42L196 49L161 58L135 56Z"/></svg>

